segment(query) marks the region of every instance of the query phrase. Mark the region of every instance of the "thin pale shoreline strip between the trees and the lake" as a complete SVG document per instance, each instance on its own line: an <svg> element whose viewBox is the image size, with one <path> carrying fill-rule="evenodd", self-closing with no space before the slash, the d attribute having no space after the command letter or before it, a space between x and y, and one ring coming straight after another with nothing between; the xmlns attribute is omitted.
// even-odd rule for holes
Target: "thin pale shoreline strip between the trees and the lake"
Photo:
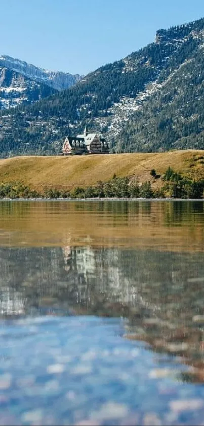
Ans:
<svg viewBox="0 0 204 426"><path fill-rule="evenodd" d="M204 202L204 198L2 198L1 201L66 201L66 202L74 202L74 201L201 201Z"/></svg>

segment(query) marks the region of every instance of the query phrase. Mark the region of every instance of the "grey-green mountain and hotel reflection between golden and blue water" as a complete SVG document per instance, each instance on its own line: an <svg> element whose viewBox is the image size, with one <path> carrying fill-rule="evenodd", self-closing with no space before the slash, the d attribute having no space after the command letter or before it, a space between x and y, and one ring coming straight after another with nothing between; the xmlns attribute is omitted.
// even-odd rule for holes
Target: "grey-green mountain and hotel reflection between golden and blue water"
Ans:
<svg viewBox="0 0 204 426"><path fill-rule="evenodd" d="M204 380L202 253L124 248L0 249L0 311L129 319L126 337L180 356Z"/></svg>

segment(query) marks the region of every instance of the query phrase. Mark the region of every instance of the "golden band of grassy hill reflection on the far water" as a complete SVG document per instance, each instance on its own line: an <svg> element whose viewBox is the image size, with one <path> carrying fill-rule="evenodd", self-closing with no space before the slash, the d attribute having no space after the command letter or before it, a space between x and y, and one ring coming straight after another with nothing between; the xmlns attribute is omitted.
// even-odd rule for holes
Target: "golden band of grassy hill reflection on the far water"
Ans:
<svg viewBox="0 0 204 426"><path fill-rule="evenodd" d="M3 247L203 251L203 202L0 202Z"/></svg>

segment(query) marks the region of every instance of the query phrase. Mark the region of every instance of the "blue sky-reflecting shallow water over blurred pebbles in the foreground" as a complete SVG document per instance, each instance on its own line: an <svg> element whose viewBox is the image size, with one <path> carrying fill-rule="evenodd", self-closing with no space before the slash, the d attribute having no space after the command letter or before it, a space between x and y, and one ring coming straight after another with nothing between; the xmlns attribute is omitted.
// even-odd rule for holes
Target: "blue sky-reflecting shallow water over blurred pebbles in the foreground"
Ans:
<svg viewBox="0 0 204 426"><path fill-rule="evenodd" d="M94 316L4 322L0 424L201 424L203 385L184 385L179 359L124 339L124 325Z"/></svg>

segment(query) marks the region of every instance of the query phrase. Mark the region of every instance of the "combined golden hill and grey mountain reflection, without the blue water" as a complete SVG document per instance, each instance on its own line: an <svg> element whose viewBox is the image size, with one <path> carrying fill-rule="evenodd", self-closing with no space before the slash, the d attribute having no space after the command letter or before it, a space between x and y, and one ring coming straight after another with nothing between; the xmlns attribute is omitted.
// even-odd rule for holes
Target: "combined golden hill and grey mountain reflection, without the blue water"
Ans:
<svg viewBox="0 0 204 426"><path fill-rule="evenodd" d="M204 381L203 202L1 202L0 313L127 318ZM175 358L176 357L176 358Z"/></svg>

